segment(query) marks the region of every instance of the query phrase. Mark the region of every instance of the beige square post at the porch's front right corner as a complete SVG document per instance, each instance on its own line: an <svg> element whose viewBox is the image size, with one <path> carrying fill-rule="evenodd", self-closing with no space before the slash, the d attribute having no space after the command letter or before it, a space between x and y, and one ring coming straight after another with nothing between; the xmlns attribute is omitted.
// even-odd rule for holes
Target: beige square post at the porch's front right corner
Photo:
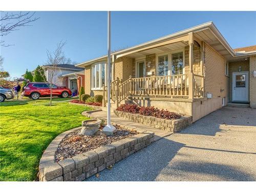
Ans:
<svg viewBox="0 0 256 192"><path fill-rule="evenodd" d="M193 99L194 93L194 80L193 80L193 48L194 39L193 33L188 33L188 45L189 45L189 73L188 73L188 98Z"/></svg>

